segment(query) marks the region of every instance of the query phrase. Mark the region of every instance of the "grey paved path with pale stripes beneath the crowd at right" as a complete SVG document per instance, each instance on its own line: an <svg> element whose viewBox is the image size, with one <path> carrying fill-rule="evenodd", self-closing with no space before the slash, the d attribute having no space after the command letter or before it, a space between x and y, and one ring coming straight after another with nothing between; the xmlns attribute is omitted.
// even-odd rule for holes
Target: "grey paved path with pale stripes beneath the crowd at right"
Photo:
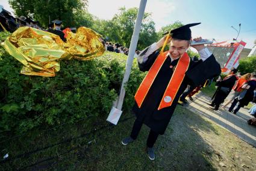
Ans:
<svg viewBox="0 0 256 171"><path fill-rule="evenodd" d="M247 120L252 116L245 108L240 108L237 114L229 113L223 110L221 107L218 111L211 110L207 103L211 102L211 98L205 96L202 92L193 96L194 101L189 101L188 105L185 105L187 109L194 113L210 119L214 123L228 131L236 134L237 137L248 142L252 146L256 147L256 126L248 125Z"/></svg>

